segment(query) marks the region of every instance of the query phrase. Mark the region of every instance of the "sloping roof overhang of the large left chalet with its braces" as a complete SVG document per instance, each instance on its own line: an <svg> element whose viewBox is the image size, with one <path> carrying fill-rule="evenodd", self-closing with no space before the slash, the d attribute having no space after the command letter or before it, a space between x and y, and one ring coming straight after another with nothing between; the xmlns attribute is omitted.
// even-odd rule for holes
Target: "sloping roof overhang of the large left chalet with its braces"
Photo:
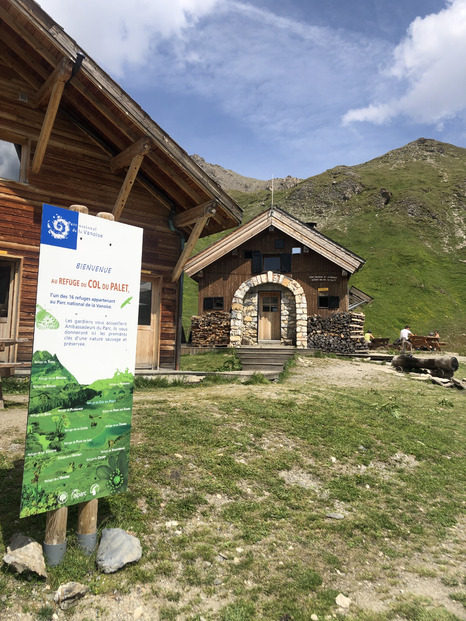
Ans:
<svg viewBox="0 0 466 621"><path fill-rule="evenodd" d="M115 219L137 183L188 239L173 280L198 237L241 222L237 203L33 0L0 0L0 55L32 93L26 101L24 94L18 98L44 110L40 134L32 136L31 172L41 169L57 114L65 115L121 176L119 195L109 206Z"/></svg>

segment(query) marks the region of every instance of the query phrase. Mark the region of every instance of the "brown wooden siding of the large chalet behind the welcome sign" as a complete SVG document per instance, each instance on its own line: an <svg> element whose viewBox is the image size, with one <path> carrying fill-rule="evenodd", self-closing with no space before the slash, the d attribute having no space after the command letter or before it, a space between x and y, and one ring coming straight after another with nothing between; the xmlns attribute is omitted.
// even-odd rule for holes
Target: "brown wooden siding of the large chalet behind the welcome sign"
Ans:
<svg viewBox="0 0 466 621"><path fill-rule="evenodd" d="M37 138L43 113L12 101L12 89L4 79L10 72L0 64L0 140L24 143ZM26 85L21 88L27 91ZM33 154L33 153L32 153ZM29 175L29 183L0 179L0 252L4 258L22 258L19 338L19 362L29 362L32 354L38 250L42 204L67 208L82 204L89 213L111 211L124 174L110 173L108 157L66 116L58 114L40 174ZM180 236L170 229L170 211L156 202L143 187L133 188L121 222L144 228L143 269L163 277L161 309L160 363L173 366L177 306L177 285L171 273L180 255ZM128 249L130 252L131 249Z"/></svg>

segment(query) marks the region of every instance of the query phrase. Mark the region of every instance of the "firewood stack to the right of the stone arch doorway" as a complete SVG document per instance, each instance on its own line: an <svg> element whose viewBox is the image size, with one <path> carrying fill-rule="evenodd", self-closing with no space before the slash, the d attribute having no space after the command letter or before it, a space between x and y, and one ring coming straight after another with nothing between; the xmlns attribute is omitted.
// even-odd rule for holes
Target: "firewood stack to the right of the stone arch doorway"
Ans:
<svg viewBox="0 0 466 621"><path fill-rule="evenodd" d="M335 354L367 352L362 313L334 313L329 317L312 315L307 321L309 349Z"/></svg>

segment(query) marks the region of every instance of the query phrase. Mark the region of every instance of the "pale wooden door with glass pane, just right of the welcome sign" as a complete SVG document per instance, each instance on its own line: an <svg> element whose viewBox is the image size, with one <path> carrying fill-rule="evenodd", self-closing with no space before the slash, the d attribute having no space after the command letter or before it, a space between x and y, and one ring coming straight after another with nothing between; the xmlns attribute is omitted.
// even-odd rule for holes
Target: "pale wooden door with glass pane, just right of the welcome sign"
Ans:
<svg viewBox="0 0 466 621"><path fill-rule="evenodd" d="M143 274L139 292L136 368L158 369L162 278Z"/></svg>

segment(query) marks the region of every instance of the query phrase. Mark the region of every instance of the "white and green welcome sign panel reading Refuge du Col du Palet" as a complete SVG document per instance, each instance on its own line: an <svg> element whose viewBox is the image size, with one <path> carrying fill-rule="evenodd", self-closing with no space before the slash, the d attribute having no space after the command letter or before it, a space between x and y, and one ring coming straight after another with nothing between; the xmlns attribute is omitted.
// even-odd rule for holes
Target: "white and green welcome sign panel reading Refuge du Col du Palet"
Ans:
<svg viewBox="0 0 466 621"><path fill-rule="evenodd" d="M142 229L43 206L20 516L125 491Z"/></svg>

